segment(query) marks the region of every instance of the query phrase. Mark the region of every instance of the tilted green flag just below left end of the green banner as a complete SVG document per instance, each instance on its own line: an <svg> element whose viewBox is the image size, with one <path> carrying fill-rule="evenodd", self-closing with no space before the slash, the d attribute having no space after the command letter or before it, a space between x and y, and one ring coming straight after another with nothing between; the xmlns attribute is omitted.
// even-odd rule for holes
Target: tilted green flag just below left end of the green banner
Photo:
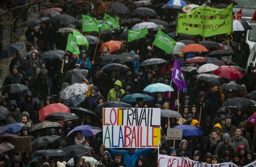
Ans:
<svg viewBox="0 0 256 167"><path fill-rule="evenodd" d="M159 47L160 49L163 49L167 53L171 53L174 46L176 45L176 42L159 29L157 32L157 36L154 40L154 45Z"/></svg>

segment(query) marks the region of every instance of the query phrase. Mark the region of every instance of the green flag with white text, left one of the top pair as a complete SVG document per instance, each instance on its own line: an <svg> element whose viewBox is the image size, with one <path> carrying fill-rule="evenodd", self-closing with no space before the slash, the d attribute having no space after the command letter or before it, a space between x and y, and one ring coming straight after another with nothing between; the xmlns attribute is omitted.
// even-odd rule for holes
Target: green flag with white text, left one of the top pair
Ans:
<svg viewBox="0 0 256 167"><path fill-rule="evenodd" d="M96 18L82 14L83 32L91 32L91 31L99 32L98 24L99 24L99 21Z"/></svg>

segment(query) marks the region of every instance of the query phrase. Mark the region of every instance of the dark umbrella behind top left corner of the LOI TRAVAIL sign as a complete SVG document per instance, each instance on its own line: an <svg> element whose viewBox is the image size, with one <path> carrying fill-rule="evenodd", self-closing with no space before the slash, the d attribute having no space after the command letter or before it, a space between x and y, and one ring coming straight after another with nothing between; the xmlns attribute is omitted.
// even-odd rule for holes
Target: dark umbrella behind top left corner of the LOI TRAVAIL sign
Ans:
<svg viewBox="0 0 256 167"><path fill-rule="evenodd" d="M99 115L102 115L102 109L106 107L112 107L112 108L132 108L131 104L124 103L122 101L106 101L102 104L99 104L94 112L98 113Z"/></svg>

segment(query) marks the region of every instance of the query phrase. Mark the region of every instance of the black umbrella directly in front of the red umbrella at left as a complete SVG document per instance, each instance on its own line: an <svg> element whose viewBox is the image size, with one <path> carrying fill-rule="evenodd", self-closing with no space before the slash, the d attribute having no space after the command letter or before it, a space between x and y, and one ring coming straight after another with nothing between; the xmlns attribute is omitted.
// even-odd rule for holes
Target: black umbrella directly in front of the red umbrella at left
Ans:
<svg viewBox="0 0 256 167"><path fill-rule="evenodd" d="M70 112L54 112L50 113L49 115L46 116L44 121L52 121L52 122L57 122L57 121L67 121L67 120L72 120L72 119L77 119L79 118L76 114L70 113Z"/></svg>

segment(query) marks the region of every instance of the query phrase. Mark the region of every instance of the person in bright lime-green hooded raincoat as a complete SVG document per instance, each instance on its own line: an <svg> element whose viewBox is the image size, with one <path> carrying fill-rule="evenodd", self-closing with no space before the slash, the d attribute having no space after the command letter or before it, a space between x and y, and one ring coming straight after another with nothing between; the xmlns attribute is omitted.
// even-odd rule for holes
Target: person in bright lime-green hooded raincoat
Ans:
<svg viewBox="0 0 256 167"><path fill-rule="evenodd" d="M114 88L110 89L110 91L108 92L108 101L120 101L124 93L125 90L122 89L122 82L116 80L114 83Z"/></svg>

